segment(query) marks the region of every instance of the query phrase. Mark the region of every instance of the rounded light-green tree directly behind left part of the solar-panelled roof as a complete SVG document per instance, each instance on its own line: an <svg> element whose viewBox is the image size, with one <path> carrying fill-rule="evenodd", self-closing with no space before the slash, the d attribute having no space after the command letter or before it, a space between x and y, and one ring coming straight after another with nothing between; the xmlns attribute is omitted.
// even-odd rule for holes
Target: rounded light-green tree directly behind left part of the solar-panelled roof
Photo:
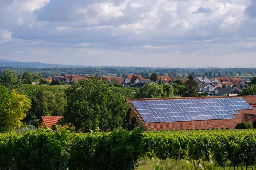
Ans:
<svg viewBox="0 0 256 170"><path fill-rule="evenodd" d="M162 85L157 83L148 83L140 88L136 93L136 98L161 98L166 97Z"/></svg>

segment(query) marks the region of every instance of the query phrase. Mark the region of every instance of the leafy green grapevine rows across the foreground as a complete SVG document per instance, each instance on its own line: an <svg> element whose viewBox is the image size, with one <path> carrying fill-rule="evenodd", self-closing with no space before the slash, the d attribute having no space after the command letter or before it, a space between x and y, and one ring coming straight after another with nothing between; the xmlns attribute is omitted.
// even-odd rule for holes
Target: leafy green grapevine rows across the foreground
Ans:
<svg viewBox="0 0 256 170"><path fill-rule="evenodd" d="M0 170L126 170L154 150L160 159L194 159L215 153L222 166L256 164L256 130L204 130L111 133L57 133L41 130L0 135Z"/></svg>

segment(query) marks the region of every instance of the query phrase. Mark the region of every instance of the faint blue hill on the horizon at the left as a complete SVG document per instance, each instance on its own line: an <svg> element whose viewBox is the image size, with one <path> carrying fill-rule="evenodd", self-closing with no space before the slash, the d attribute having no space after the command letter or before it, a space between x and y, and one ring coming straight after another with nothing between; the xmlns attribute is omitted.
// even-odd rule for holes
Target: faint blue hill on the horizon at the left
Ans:
<svg viewBox="0 0 256 170"><path fill-rule="evenodd" d="M60 67L78 67L76 65L59 65ZM0 67L56 67L56 64L46 64L41 62L20 62L8 59L0 59Z"/></svg>

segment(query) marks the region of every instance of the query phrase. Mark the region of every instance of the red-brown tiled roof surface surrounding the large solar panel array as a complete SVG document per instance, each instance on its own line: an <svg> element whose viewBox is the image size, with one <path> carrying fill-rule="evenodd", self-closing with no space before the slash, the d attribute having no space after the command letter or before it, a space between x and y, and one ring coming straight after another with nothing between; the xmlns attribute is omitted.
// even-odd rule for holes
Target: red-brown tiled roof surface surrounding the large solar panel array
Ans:
<svg viewBox="0 0 256 170"><path fill-rule="evenodd" d="M252 110L239 110L239 114L234 114L236 119L218 119L218 120L198 120L198 121L180 121L180 122L157 122L157 123L145 123L140 114L131 104L131 101L141 101L141 100L175 100L175 99L210 99L210 98L227 98L227 97L242 97L253 109ZM181 129L212 129L212 128L226 128L235 129L236 124L243 122L244 115L250 114L256 116L256 96L216 96L216 97L184 97L184 98L155 98L155 99L126 99L131 109L134 111L136 116L143 123L145 128L152 130L181 130ZM245 116L247 120L247 116ZM256 120L253 119L253 120Z"/></svg>

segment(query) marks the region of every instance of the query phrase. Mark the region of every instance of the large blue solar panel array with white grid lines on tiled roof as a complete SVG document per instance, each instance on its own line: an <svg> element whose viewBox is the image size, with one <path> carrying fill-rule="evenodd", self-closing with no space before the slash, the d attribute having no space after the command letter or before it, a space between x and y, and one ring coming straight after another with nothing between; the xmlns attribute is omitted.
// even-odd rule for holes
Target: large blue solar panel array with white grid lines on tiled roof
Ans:
<svg viewBox="0 0 256 170"><path fill-rule="evenodd" d="M253 109L242 97L131 101L146 123L235 119L237 110Z"/></svg>

